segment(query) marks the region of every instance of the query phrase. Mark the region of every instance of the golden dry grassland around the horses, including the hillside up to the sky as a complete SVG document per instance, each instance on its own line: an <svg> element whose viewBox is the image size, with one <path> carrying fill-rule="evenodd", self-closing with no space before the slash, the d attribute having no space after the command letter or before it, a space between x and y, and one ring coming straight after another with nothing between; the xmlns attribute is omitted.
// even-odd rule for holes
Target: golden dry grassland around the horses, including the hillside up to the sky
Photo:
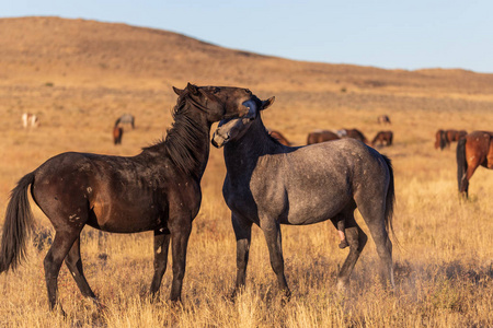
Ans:
<svg viewBox="0 0 493 328"><path fill-rule="evenodd" d="M47 243L30 243L27 260L0 274L1 327L492 327L493 172L480 167L470 200L459 203L455 144L436 151L435 131L493 130L493 75L461 70L390 71L289 61L121 24L56 17L0 20L0 224L9 192L26 173L65 151L135 155L165 134L176 96L171 86L234 85L275 95L264 122L296 145L313 129L357 128L367 138L391 129L394 144L377 148L394 166L397 290L378 283L370 239L352 276L335 289L347 249L330 222L283 226L293 298L282 306L265 241L253 229L246 289L228 295L236 243L221 186L222 151L211 149L203 203L187 253L183 304L151 303L152 233L82 232L89 283L106 306L84 300L67 268L59 277L64 318L48 311L43 272ZM23 129L21 115L41 127ZM136 116L123 144L112 127ZM388 114L391 126L377 124ZM214 129L214 127L213 127ZM51 231L32 202L39 231ZM362 227L366 230L360 216ZM47 241L45 241L47 242ZM171 261L171 259L170 259Z"/></svg>

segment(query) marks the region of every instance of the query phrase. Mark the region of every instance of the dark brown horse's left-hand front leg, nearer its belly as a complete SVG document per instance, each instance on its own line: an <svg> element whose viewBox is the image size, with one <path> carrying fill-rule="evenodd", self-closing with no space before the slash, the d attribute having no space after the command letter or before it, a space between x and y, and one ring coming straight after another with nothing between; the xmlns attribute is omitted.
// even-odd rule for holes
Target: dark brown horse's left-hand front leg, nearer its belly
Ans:
<svg viewBox="0 0 493 328"><path fill-rule="evenodd" d="M156 297L159 294L159 288L161 286L162 277L167 271L168 265L168 249L170 246L171 235L168 229L167 231L154 231L154 276L150 286L150 294Z"/></svg>

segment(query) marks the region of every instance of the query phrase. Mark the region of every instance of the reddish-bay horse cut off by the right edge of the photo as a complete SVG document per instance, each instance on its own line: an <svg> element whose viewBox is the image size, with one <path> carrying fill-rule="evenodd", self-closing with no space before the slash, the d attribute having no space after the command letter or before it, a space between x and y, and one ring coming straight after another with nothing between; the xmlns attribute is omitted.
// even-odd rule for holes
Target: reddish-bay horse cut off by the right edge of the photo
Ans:
<svg viewBox="0 0 493 328"><path fill-rule="evenodd" d="M480 165L493 168L493 132L473 131L457 143L457 179L462 198L468 198L469 180Z"/></svg>

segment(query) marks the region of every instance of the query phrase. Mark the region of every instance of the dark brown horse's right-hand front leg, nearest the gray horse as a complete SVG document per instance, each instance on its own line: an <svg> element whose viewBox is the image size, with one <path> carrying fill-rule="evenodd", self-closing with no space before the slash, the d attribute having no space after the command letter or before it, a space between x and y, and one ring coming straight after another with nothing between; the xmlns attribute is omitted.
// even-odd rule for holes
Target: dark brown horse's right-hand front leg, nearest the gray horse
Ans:
<svg viewBox="0 0 493 328"><path fill-rule="evenodd" d="M171 283L171 301L181 301L183 277L185 276L186 246L192 231L192 218L190 215L170 218L171 251L173 257L173 281Z"/></svg>

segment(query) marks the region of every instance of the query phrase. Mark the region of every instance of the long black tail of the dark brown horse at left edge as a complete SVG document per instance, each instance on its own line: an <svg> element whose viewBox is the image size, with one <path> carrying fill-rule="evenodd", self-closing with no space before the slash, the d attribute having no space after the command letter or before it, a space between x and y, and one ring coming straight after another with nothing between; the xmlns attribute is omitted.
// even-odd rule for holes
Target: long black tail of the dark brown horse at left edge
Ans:
<svg viewBox="0 0 493 328"><path fill-rule="evenodd" d="M14 270L25 258L26 238L34 225L27 188L34 183L34 172L25 175L11 191L0 249L0 272Z"/></svg>

